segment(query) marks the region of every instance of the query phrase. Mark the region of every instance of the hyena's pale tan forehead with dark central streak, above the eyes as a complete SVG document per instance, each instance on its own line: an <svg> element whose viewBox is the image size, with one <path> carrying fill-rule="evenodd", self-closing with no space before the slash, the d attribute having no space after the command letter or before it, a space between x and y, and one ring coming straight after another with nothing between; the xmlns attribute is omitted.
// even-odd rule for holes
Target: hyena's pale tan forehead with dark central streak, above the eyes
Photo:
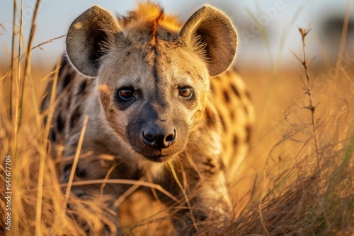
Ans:
<svg viewBox="0 0 354 236"><path fill-rule="evenodd" d="M172 86L208 83L205 62L188 48L175 45L176 42L160 41L154 47L139 43L113 50L101 61L99 83L110 87L139 83L155 86L158 82Z"/></svg>

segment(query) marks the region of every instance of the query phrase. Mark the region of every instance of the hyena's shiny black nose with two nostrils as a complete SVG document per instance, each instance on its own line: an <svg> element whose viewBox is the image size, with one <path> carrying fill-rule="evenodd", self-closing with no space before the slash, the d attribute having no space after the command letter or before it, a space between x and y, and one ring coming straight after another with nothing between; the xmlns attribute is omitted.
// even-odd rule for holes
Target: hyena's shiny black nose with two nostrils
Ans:
<svg viewBox="0 0 354 236"><path fill-rule="evenodd" d="M149 147L155 149L168 148L176 141L176 129L164 132L148 127L142 131L142 141Z"/></svg>

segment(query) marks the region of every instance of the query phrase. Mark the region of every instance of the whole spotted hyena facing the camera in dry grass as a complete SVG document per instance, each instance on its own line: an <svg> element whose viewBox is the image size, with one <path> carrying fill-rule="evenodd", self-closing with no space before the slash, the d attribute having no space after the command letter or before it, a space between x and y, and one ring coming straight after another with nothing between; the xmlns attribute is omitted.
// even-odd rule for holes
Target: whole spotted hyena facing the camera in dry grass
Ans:
<svg viewBox="0 0 354 236"><path fill-rule="evenodd" d="M179 23L147 2L116 19L93 6L70 25L66 45L50 134L64 146L62 183L88 115L74 181L142 178L161 185L175 198L145 190L166 206L178 199L169 215L181 235L231 216L227 179L248 152L253 110L230 68L237 35L229 18L203 6ZM131 185L101 183L74 186L72 194L108 208L105 226L82 223L86 232L116 234L115 201Z"/></svg>

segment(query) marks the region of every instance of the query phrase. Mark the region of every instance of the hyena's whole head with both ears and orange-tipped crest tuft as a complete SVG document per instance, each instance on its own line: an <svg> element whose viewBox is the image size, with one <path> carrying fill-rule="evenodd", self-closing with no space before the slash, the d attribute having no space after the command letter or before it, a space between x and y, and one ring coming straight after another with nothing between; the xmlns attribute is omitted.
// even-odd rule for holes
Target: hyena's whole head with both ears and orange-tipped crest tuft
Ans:
<svg viewBox="0 0 354 236"><path fill-rule="evenodd" d="M98 6L82 13L69 28L67 55L96 77L106 119L130 154L159 163L187 146L210 76L232 64L236 32L211 6L180 25L156 4L139 5L118 20Z"/></svg>

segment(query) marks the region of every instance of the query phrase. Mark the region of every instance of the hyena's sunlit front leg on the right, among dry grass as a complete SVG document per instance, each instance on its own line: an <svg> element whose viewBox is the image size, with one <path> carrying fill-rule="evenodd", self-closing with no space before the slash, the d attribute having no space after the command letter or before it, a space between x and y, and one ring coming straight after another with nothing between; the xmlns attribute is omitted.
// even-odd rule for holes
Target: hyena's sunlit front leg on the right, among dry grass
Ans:
<svg viewBox="0 0 354 236"><path fill-rule="evenodd" d="M180 199L185 199L183 206L173 212L178 235L193 235L205 224L232 216L232 203L221 163L205 156L194 156L193 160L183 160L183 167L176 168L179 181L185 183L183 189L189 201L186 202L181 191L176 193Z"/></svg>

